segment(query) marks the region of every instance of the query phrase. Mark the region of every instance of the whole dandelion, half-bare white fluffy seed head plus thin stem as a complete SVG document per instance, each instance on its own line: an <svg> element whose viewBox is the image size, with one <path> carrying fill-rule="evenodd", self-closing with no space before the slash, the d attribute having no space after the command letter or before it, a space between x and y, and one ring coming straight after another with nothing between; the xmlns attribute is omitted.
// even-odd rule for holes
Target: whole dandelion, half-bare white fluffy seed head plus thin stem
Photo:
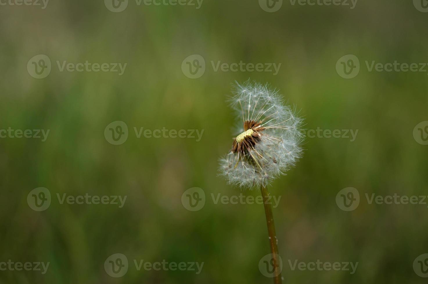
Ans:
<svg viewBox="0 0 428 284"><path fill-rule="evenodd" d="M264 198L270 249L278 263L278 247L267 185L294 166L302 155L302 119L283 104L278 91L269 85L247 81L235 85L232 108L238 118L239 135L232 149L220 159L220 175L229 184L253 189L260 187ZM276 273L274 283L281 283Z"/></svg>

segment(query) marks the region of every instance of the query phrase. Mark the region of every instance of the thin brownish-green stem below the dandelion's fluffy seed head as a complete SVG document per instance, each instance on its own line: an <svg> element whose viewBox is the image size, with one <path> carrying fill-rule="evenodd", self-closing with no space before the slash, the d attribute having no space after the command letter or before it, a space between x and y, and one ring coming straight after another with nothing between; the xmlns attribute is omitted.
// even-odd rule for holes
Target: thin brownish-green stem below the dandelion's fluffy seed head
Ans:
<svg viewBox="0 0 428 284"><path fill-rule="evenodd" d="M270 193L265 186L261 186L262 196L263 196L263 204L265 205L265 213L266 213L266 222L268 223L268 234L269 234L269 245L270 252L272 253L273 264L280 264L279 253L278 253L278 240L276 239L275 232L275 224L273 223L273 214L272 214L272 204L270 203ZM275 277L273 278L274 284L281 284L281 268L280 266L275 266ZM277 270L278 269L278 270Z"/></svg>

